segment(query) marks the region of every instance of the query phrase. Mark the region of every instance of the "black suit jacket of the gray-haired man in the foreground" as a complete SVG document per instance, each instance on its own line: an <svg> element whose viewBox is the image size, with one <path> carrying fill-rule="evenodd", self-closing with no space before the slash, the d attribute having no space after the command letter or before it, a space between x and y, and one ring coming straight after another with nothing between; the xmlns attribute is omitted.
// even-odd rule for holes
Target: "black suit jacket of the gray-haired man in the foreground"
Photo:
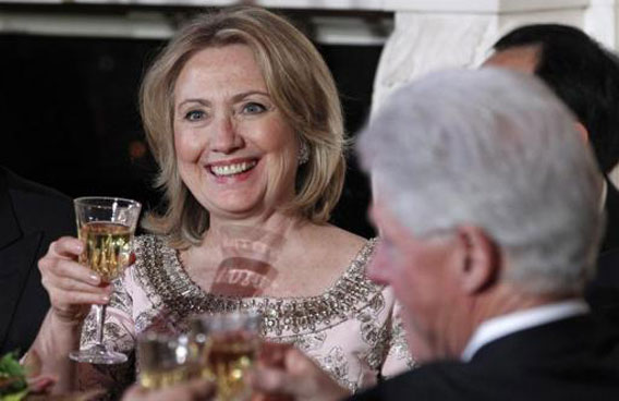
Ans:
<svg viewBox="0 0 619 401"><path fill-rule="evenodd" d="M424 365L354 401L619 400L619 332L590 315L495 340L469 363Z"/></svg>

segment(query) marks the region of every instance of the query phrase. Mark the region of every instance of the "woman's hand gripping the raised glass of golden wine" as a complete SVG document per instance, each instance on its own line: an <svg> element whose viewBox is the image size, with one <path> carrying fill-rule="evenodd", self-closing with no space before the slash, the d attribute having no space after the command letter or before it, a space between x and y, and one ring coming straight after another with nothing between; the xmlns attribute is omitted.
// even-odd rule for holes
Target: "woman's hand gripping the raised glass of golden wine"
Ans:
<svg viewBox="0 0 619 401"><path fill-rule="evenodd" d="M63 236L51 243L38 263L51 302L50 313L63 324L81 324L92 304L107 304L111 294L109 283L102 283L97 274L77 263L83 250L82 241Z"/></svg>

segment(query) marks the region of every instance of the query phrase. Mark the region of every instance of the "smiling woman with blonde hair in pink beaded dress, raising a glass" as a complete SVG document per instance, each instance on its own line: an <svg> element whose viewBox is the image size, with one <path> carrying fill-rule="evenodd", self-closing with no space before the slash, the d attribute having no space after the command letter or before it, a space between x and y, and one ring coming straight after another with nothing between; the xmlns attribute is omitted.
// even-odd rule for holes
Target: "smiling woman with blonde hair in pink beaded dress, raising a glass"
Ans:
<svg viewBox="0 0 619 401"><path fill-rule="evenodd" d="M327 223L347 139L336 85L307 38L258 8L203 15L148 70L141 111L167 209L147 216L150 233L111 294L74 266L78 242L49 251L54 296L33 349L44 372L58 373L80 327L83 343L94 340L94 316L74 312L86 299L109 302L105 337L130 355L146 330L179 333L196 313L251 309L267 340L296 345L349 390L406 367L392 293L365 276L376 241ZM119 390L134 377L123 372L133 364L78 376Z"/></svg>

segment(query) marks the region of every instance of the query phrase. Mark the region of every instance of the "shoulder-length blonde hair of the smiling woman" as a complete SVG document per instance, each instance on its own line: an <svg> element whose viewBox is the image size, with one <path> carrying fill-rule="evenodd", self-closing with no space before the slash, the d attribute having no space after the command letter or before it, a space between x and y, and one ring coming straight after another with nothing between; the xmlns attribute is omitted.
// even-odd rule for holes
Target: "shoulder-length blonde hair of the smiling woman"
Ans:
<svg viewBox="0 0 619 401"><path fill-rule="evenodd" d="M344 181L347 145L338 90L314 45L291 23L255 7L199 15L185 25L150 65L139 92L147 141L159 165L155 182L166 209L149 212L143 227L168 235L170 245L199 243L209 215L182 182L174 151L174 87L190 58L209 47L248 46L262 69L269 95L310 150L296 175L294 198L282 209L325 223Z"/></svg>

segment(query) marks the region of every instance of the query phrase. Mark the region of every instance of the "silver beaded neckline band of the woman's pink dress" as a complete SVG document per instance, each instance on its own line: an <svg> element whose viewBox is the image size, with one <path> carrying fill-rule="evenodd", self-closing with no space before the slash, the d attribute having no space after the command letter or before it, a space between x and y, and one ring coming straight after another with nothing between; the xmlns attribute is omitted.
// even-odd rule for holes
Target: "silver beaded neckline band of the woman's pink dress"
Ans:
<svg viewBox="0 0 619 401"><path fill-rule="evenodd" d="M183 269L177 251L155 235L136 239L136 279L156 307L175 324L194 314L258 311L265 336L299 336L332 327L379 297L383 285L365 277L376 240L368 240L350 266L321 294L306 297L234 297L205 292Z"/></svg>

